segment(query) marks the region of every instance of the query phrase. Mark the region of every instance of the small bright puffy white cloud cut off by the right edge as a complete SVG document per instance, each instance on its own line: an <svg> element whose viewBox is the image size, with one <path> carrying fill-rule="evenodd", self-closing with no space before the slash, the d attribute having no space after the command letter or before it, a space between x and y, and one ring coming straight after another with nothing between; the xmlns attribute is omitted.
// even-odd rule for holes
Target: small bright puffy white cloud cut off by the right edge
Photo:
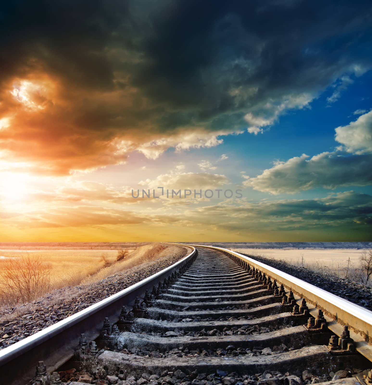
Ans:
<svg viewBox="0 0 372 385"><path fill-rule="evenodd" d="M347 152L372 152L372 110L347 126L337 127L335 131L336 141L343 144Z"/></svg>

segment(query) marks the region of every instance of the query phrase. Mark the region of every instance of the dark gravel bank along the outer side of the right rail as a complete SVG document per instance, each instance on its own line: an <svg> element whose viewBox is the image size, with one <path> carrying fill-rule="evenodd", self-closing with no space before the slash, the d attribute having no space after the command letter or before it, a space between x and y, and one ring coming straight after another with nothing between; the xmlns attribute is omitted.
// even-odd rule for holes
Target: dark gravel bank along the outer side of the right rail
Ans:
<svg viewBox="0 0 372 385"><path fill-rule="evenodd" d="M250 257L248 254L243 255ZM372 289L362 283L350 281L348 278L339 278L331 274L320 273L319 271L307 268L292 266L284 261L277 261L261 256L252 256L251 258L300 278L321 289L327 290L345 300L372 310Z"/></svg>

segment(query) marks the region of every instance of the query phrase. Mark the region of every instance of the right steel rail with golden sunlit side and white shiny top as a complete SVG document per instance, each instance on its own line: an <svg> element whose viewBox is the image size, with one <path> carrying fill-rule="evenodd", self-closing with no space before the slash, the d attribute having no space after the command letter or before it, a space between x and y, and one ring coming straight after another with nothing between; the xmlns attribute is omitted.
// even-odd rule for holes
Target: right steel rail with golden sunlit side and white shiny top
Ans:
<svg viewBox="0 0 372 385"><path fill-rule="evenodd" d="M262 273L269 275L297 294L297 299L305 298L308 303L322 309L328 321L327 326L333 333L340 336L342 325L349 326L356 350L372 362L372 311L235 251L216 246L177 244L219 250L246 261L251 267L259 268ZM311 309L309 310L312 313Z"/></svg>

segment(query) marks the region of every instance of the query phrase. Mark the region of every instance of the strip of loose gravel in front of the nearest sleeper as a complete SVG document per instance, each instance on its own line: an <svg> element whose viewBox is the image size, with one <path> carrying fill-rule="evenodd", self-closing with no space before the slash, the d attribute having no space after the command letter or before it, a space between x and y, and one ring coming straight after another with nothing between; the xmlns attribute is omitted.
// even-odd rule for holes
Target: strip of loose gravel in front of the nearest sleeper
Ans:
<svg viewBox="0 0 372 385"><path fill-rule="evenodd" d="M277 371L270 372L269 370L256 374L229 373L224 370L217 370L214 373L194 371L187 374L178 369L175 372L165 370L160 375L142 373L141 377L135 377L120 373L107 375L104 369L99 369L95 373L77 372L75 369L70 369L59 372L59 374L62 382L71 385L83 385L84 383L98 385L305 385L355 377L360 372L362 372L360 369L345 368L345 370L339 370L336 373L329 372L328 374L317 375L309 370L304 370L302 375L298 377L289 372L282 374ZM365 372L367 374L368 370Z"/></svg>

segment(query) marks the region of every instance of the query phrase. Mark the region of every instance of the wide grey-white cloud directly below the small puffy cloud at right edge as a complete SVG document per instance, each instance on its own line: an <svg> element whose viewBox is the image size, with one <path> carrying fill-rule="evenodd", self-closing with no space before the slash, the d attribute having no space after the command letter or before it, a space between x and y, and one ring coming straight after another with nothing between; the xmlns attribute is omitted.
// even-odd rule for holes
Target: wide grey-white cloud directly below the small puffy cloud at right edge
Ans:
<svg viewBox="0 0 372 385"><path fill-rule="evenodd" d="M323 152L309 158L303 154L286 162L277 162L261 175L245 180L243 185L258 191L280 194L317 187L334 189L339 186L372 184L372 155Z"/></svg>

